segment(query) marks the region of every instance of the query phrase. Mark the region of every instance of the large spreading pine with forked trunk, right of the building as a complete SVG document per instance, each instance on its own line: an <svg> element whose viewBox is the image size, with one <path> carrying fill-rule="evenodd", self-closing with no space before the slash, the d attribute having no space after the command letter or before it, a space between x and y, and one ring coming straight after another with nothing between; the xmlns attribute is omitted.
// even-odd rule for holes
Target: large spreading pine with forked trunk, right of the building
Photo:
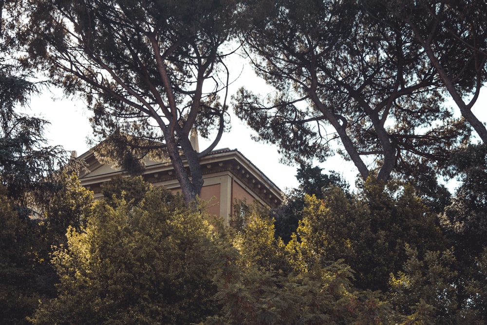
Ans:
<svg viewBox="0 0 487 325"><path fill-rule="evenodd" d="M244 48L276 91L260 98L241 89L235 110L285 158L337 152L364 180L387 180L445 160L468 136L409 31L378 22L359 1L274 1L252 23Z"/></svg>

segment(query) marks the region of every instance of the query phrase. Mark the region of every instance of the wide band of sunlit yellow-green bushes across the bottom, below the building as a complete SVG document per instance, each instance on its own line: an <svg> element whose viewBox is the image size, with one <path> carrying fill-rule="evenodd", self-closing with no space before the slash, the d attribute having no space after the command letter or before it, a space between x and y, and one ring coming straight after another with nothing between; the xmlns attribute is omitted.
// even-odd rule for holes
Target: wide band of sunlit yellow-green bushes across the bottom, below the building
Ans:
<svg viewBox="0 0 487 325"><path fill-rule="evenodd" d="M257 206L228 229L140 178L107 191L55 249L57 294L40 296L34 324L486 320L487 254L457 254L409 185L369 179L356 193L306 195L287 245Z"/></svg>

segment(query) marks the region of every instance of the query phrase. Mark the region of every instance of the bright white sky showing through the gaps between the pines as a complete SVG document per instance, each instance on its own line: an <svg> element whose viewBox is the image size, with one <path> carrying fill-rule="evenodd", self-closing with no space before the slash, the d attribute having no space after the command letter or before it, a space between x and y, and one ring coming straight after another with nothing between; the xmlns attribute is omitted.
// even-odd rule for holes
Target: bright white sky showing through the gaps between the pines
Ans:
<svg viewBox="0 0 487 325"><path fill-rule="evenodd" d="M237 81L229 87L232 94L242 85L251 86L252 89L268 90L265 82L255 76L251 67L244 62L234 64L233 76ZM237 77L235 77L237 78ZM487 89L484 88L481 97L474 106L474 113L485 123L487 122ZM456 110L458 111L458 110ZM486 113L484 113L486 112ZM40 96L32 98L27 113L48 120L51 124L46 127L45 137L51 145L60 145L67 151L76 151L78 155L88 151L87 139L91 137L92 129L89 124L89 112L83 102L75 98L63 98L60 90L44 90ZM231 118L231 131L222 136L215 149L237 149L259 168L281 191L295 188L299 185L296 179L297 166L287 166L280 162L280 154L273 145L255 142L251 139L253 133L244 121L236 116ZM200 150L204 150L209 143L199 139ZM329 158L325 163L319 164L323 172L335 171L344 176L354 187L358 172L355 165L339 156Z"/></svg>

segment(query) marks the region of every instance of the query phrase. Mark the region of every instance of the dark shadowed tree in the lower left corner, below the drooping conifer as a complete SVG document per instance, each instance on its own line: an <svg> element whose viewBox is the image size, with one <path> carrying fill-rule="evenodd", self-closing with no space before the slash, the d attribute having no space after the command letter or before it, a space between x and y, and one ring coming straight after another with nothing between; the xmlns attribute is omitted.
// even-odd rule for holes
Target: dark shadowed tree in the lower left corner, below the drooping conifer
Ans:
<svg viewBox="0 0 487 325"><path fill-rule="evenodd" d="M50 264L52 247L66 242L69 225L79 228L93 199L75 176L62 174L57 188L43 203L40 219L19 215L19 202L9 197L6 188L0 188L2 324L28 324L26 317L34 313L39 299L56 295L58 277Z"/></svg>

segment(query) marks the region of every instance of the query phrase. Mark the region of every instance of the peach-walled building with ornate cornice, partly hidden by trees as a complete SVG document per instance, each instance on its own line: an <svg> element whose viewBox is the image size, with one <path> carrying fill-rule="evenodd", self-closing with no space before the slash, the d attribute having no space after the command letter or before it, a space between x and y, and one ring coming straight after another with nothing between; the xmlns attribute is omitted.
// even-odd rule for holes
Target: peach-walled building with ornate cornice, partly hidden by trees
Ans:
<svg viewBox="0 0 487 325"><path fill-rule="evenodd" d="M79 175L81 185L94 191L94 198L102 197L101 185L123 171L100 163L93 151L79 156L87 163L87 171ZM238 150L216 150L200 161L204 185L201 198L209 201L208 211L227 220L233 212L235 200L246 199L264 206L281 204L281 190ZM146 160L142 174L145 181L154 186L165 186L171 191L179 190L179 183L170 162Z"/></svg>

